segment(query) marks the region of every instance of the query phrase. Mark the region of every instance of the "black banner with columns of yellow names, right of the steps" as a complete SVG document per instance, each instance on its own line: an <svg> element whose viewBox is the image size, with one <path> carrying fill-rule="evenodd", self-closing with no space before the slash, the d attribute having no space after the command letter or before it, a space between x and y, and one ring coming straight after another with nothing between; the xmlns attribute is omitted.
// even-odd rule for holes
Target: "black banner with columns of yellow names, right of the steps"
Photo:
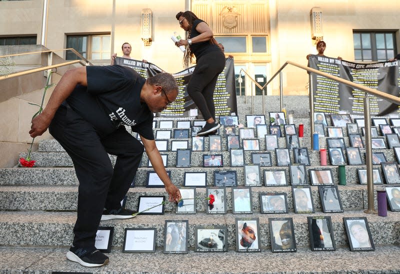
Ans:
<svg viewBox="0 0 400 274"><path fill-rule="evenodd" d="M354 63L327 56L311 55L309 67L341 77L394 96L400 95L400 64L392 62ZM345 84L311 73L315 112L363 115L365 93ZM372 116L398 114L399 108L384 99L371 97L369 108Z"/></svg>

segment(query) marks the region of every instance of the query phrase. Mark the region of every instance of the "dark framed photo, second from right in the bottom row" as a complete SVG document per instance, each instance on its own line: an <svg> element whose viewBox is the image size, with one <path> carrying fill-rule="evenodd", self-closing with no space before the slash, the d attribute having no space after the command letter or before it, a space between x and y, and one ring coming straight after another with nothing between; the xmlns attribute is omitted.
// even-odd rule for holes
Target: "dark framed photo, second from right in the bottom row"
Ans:
<svg viewBox="0 0 400 274"><path fill-rule="evenodd" d="M336 250L330 216L307 217L312 251Z"/></svg>

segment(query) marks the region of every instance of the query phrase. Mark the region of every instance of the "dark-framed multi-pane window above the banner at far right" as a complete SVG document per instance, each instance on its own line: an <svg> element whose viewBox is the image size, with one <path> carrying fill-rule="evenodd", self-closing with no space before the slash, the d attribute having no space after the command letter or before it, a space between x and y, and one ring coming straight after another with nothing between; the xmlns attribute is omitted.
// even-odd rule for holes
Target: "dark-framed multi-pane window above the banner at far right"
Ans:
<svg viewBox="0 0 400 274"><path fill-rule="evenodd" d="M394 57L394 32L353 32L356 61L386 61Z"/></svg>

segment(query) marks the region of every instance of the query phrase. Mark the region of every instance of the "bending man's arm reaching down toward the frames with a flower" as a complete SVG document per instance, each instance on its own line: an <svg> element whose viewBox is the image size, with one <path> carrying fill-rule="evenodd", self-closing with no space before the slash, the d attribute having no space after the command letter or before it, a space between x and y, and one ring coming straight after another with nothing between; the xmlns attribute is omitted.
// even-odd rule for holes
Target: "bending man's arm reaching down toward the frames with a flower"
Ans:
<svg viewBox="0 0 400 274"><path fill-rule="evenodd" d="M179 189L174 184L172 184L171 180L169 179L168 174L166 173L166 170L164 168L164 163L162 162L161 155L159 154L159 151L155 146L155 141L147 140L141 135L140 139L143 142L143 146L146 149L148 159L150 160L155 173L157 173L158 177L161 179L162 183L165 186L165 190L169 195L169 201L178 202L181 199Z"/></svg>

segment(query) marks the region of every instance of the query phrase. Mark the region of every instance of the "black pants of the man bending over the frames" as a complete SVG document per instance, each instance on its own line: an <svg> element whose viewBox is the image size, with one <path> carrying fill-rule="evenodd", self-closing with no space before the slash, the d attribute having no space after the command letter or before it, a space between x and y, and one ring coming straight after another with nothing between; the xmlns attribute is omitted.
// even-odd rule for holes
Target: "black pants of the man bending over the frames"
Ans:
<svg viewBox="0 0 400 274"><path fill-rule="evenodd" d="M93 126L61 105L50 134L71 157L79 181L73 245L94 247L103 209L119 209L143 154L143 145L124 127L100 137ZM116 155L112 168L108 154Z"/></svg>

